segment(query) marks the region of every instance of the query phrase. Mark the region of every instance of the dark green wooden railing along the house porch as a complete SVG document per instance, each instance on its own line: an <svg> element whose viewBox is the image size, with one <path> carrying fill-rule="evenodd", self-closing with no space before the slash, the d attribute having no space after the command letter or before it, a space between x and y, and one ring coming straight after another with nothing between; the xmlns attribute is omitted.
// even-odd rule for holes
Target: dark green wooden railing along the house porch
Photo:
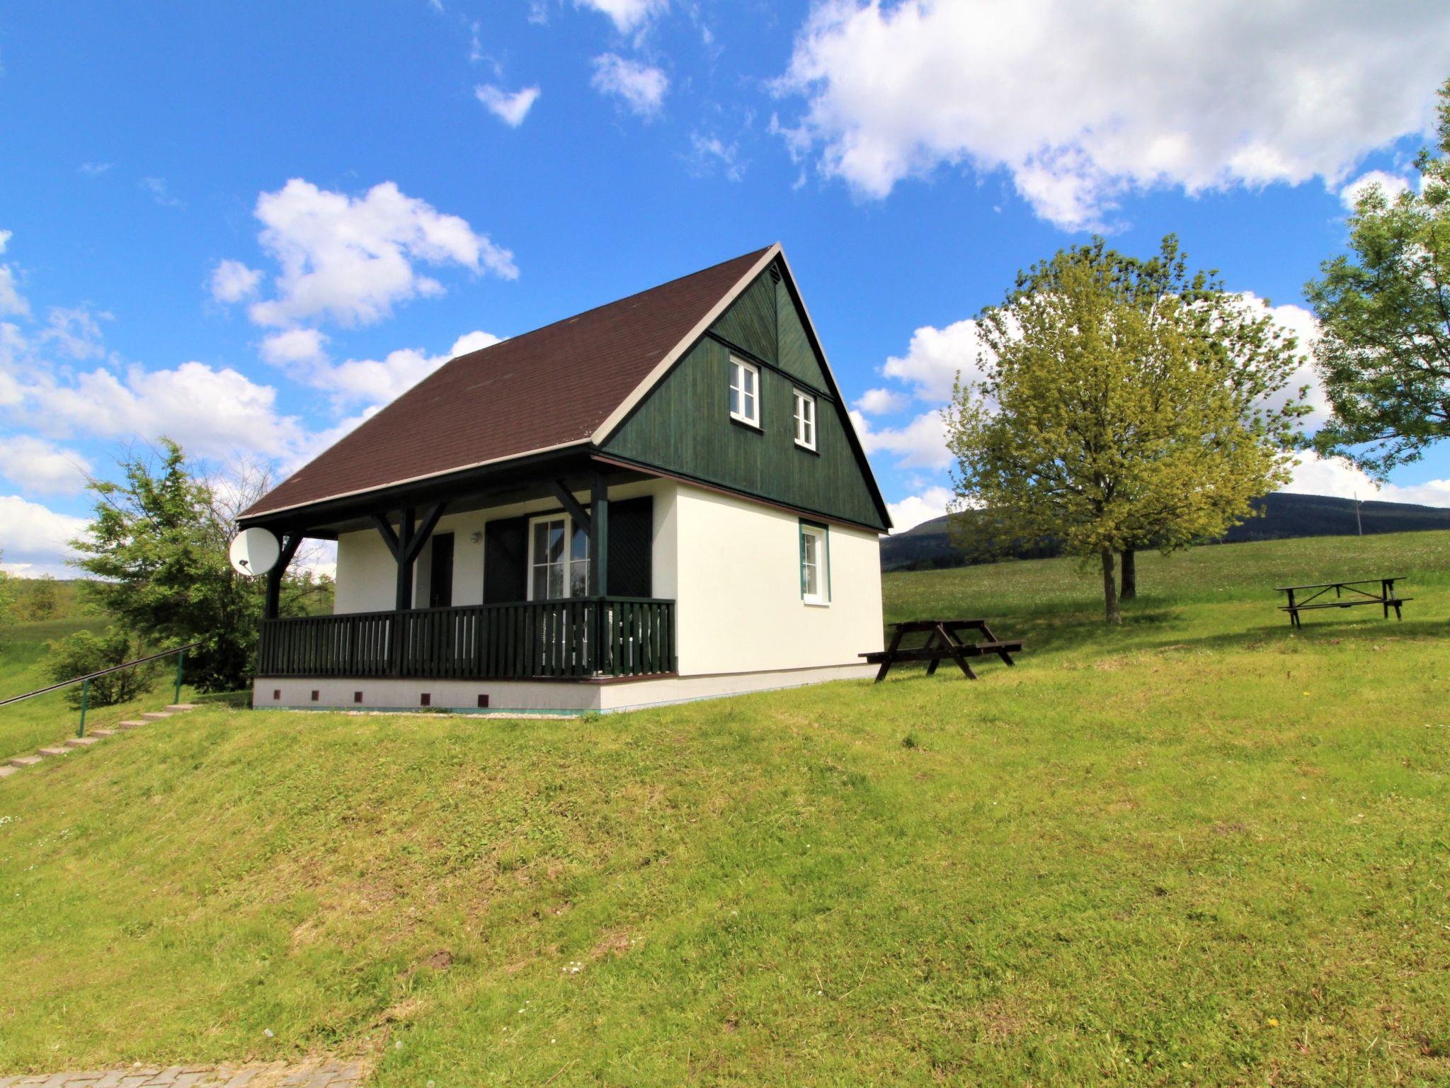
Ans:
<svg viewBox="0 0 1450 1088"><path fill-rule="evenodd" d="M674 602L622 596L264 619L257 650L258 676L522 680L674 667Z"/></svg>

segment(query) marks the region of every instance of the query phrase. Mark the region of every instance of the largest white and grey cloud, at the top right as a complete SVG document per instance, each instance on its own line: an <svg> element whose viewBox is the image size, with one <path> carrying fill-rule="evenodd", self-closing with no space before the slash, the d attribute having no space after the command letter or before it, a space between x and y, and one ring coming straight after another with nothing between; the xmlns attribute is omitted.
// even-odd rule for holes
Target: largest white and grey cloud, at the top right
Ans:
<svg viewBox="0 0 1450 1088"><path fill-rule="evenodd" d="M884 197L941 165L1002 170L1044 219L1130 191L1337 184L1424 132L1450 6L1411 0L821 0L777 93L793 154Z"/></svg>

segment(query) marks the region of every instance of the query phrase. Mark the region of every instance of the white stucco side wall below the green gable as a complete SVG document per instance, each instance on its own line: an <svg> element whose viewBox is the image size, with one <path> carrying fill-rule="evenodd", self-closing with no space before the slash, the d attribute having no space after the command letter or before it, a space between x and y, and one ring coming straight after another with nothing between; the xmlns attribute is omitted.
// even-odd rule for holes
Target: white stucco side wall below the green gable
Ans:
<svg viewBox="0 0 1450 1088"><path fill-rule="evenodd" d="M880 538L831 525L831 602L800 599L800 519L680 486L676 651L680 675L860 663L882 648Z"/></svg>

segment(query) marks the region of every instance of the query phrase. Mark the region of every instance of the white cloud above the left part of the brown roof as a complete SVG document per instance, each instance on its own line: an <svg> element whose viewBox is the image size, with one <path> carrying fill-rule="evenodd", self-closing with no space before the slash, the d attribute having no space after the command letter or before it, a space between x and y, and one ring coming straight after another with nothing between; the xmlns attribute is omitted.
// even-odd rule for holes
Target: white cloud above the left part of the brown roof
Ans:
<svg viewBox="0 0 1450 1088"><path fill-rule="evenodd" d="M287 328L319 318L367 325L392 313L394 303L442 294L442 284L419 274L415 261L509 280L519 274L508 250L392 181L352 197L293 178L262 193L255 215L262 248L281 265L277 296L248 310L258 325Z"/></svg>

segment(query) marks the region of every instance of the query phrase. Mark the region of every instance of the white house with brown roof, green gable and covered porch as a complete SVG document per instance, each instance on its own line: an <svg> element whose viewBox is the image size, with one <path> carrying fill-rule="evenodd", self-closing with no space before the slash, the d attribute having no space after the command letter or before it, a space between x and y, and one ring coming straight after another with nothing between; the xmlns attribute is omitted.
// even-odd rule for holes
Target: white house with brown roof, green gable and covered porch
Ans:
<svg viewBox="0 0 1450 1088"><path fill-rule="evenodd" d="M890 522L779 245L454 358L239 518L257 706L612 711L866 676ZM303 538L331 617L277 618Z"/></svg>

